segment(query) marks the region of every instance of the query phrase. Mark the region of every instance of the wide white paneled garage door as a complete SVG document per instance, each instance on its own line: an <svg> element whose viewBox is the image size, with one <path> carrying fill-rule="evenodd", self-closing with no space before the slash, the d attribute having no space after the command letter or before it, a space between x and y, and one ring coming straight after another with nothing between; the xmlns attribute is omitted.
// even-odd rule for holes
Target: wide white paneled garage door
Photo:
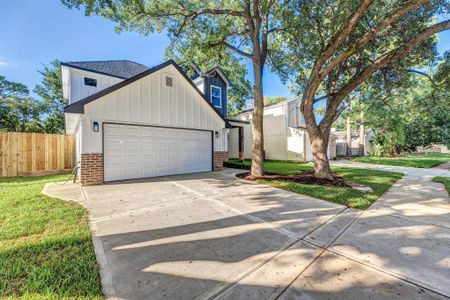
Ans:
<svg viewBox="0 0 450 300"><path fill-rule="evenodd" d="M211 132L105 124L105 181L212 170Z"/></svg>

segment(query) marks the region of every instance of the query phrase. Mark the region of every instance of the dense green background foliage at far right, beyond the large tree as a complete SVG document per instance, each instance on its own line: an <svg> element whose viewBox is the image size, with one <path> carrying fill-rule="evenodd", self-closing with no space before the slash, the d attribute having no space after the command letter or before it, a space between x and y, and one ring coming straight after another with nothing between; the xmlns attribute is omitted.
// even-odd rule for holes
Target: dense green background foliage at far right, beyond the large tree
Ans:
<svg viewBox="0 0 450 300"><path fill-rule="evenodd" d="M431 144L450 146L448 55L430 71L410 70L389 90L366 89L357 106L375 130L375 155L395 155Z"/></svg>

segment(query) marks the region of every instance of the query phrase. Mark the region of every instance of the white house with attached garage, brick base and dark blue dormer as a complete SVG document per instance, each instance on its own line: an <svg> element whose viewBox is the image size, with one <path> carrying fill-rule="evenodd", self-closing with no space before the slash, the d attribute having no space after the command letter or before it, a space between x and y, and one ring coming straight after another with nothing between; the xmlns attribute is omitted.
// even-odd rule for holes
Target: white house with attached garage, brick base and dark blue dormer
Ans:
<svg viewBox="0 0 450 300"><path fill-rule="evenodd" d="M227 158L223 73L210 70L197 80L209 86L207 98L173 61L154 68L70 62L61 69L70 103L65 131L77 137L82 184L211 171Z"/></svg>

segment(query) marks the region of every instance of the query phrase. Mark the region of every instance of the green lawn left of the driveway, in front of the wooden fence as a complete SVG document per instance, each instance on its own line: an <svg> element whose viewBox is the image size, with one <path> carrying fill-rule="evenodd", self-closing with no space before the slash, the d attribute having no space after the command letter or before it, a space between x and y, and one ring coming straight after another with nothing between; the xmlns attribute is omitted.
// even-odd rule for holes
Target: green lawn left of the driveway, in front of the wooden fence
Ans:
<svg viewBox="0 0 450 300"><path fill-rule="evenodd" d="M103 298L86 210L41 194L67 179L0 178L0 298Z"/></svg>

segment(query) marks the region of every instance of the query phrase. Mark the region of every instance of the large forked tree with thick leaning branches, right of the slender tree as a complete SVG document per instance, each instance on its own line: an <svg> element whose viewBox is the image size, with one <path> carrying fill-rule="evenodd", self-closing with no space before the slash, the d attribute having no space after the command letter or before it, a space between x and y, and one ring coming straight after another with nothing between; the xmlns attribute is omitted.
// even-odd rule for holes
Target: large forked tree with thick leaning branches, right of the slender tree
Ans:
<svg viewBox="0 0 450 300"><path fill-rule="evenodd" d="M436 38L450 28L447 0L336 0L285 2L283 27L273 47L274 68L302 94L301 109L311 140L315 176L332 178L327 157L332 124L345 99L365 84L388 84L408 68L433 60ZM319 97L320 96L320 97ZM314 104L325 99L317 122Z"/></svg>

